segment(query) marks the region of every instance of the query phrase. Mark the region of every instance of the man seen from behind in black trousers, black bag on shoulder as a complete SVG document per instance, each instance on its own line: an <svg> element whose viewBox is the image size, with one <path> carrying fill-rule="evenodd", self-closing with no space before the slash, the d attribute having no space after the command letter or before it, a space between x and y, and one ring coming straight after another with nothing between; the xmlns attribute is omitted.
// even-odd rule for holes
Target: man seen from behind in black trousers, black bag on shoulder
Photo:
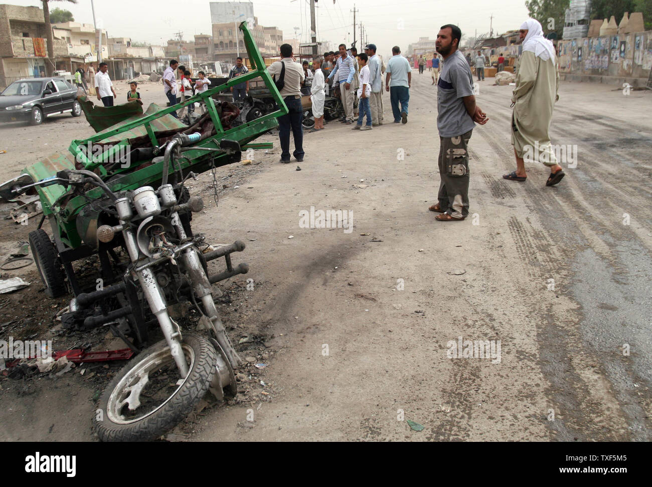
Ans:
<svg viewBox="0 0 652 487"><path fill-rule="evenodd" d="M282 44L280 47L281 60L272 63L267 72L272 76L280 76L283 66L285 66L284 86L280 90L280 95L288 106L288 115L278 117L278 139L281 145L280 162L289 164L289 132L292 130L294 136L294 157L297 162L303 161L303 108L301 107L301 81L304 80L303 68L299 63L295 63L292 56L292 46ZM274 78L276 80L276 78ZM276 80L280 81L280 78Z"/></svg>

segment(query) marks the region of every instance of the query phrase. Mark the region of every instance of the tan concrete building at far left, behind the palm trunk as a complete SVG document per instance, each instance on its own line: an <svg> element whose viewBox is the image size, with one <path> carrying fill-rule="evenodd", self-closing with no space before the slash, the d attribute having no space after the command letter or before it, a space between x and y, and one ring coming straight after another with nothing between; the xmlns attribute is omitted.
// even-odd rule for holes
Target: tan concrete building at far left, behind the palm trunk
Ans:
<svg viewBox="0 0 652 487"><path fill-rule="evenodd" d="M0 88L20 78L45 76L57 57L68 56L65 40L55 39L55 59L48 58L48 28L41 8L0 5Z"/></svg>

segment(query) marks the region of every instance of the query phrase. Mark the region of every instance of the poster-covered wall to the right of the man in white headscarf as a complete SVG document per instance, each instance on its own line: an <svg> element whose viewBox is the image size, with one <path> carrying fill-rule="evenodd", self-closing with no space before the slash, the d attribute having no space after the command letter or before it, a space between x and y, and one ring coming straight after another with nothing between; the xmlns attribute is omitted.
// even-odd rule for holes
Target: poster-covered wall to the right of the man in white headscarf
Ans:
<svg viewBox="0 0 652 487"><path fill-rule="evenodd" d="M652 68L652 31L559 40L559 72L644 78Z"/></svg>

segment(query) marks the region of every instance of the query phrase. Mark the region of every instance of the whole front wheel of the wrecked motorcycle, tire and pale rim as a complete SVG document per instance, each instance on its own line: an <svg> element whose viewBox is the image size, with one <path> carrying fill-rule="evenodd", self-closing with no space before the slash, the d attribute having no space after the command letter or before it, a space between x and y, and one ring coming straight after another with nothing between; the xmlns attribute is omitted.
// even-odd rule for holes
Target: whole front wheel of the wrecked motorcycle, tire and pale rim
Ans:
<svg viewBox="0 0 652 487"><path fill-rule="evenodd" d="M198 334L181 342L188 376L162 340L131 359L108 385L95 411L102 441L152 441L181 422L200 402L216 373L217 352Z"/></svg>

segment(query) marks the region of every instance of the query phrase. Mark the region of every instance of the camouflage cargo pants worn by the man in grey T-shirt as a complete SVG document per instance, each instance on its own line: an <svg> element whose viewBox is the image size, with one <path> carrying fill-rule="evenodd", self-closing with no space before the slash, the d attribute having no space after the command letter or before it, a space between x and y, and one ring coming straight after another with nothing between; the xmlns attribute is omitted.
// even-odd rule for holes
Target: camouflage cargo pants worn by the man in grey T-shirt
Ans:
<svg viewBox="0 0 652 487"><path fill-rule="evenodd" d="M453 218L469 214L469 130L456 137L439 137L439 207Z"/></svg>

